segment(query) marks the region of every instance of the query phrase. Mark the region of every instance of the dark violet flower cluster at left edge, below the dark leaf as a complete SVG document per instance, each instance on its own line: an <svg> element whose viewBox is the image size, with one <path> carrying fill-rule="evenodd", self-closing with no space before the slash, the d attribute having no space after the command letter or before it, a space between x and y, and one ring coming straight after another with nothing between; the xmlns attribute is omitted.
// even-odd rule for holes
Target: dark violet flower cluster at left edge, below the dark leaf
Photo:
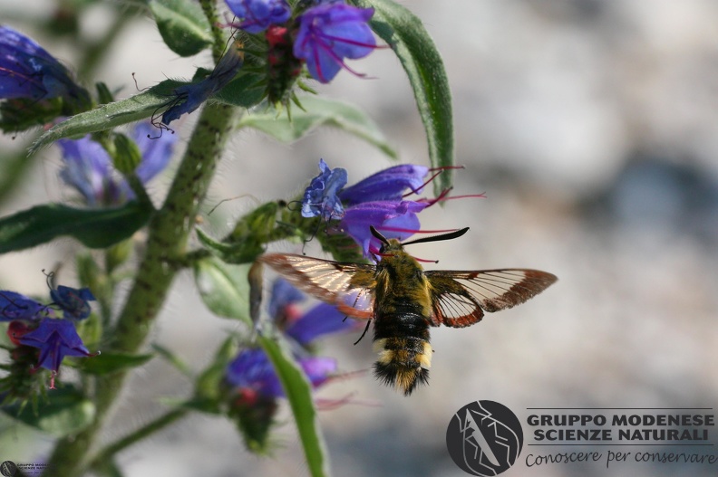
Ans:
<svg viewBox="0 0 718 477"><path fill-rule="evenodd" d="M87 358L97 353L85 348L75 329L79 321L90 316L89 301L95 300L92 292L60 285L50 290L50 297L53 301L43 304L16 291L0 291L0 321L10 322L7 336L18 351L14 357L26 358L30 356L27 348L37 348L30 356L36 360L32 371L49 369L53 389L63 358ZM57 311L62 312L62 318L56 316Z"/></svg>

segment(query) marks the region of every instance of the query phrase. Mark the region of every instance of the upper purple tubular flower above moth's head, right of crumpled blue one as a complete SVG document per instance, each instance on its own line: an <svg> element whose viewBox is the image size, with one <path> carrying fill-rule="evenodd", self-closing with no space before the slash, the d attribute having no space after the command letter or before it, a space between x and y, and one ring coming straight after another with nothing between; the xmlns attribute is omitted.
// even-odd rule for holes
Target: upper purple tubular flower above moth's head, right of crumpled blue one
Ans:
<svg viewBox="0 0 718 477"><path fill-rule="evenodd" d="M413 194L420 194L424 186L424 177L429 167L413 164L401 164L389 167L368 176L349 186L339 193L339 198L346 205L374 202L378 200L400 201L407 189Z"/></svg>

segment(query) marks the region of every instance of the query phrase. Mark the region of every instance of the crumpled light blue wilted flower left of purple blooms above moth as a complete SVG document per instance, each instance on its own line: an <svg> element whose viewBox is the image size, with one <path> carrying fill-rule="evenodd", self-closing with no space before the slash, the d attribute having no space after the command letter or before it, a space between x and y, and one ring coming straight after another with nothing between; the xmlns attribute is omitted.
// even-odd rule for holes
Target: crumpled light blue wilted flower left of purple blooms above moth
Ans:
<svg viewBox="0 0 718 477"><path fill-rule="evenodd" d="M306 187L302 199L302 216L321 216L325 221L344 215L344 206L338 196L339 190L346 184L346 169L330 169L324 159L319 159L319 176L312 179Z"/></svg>

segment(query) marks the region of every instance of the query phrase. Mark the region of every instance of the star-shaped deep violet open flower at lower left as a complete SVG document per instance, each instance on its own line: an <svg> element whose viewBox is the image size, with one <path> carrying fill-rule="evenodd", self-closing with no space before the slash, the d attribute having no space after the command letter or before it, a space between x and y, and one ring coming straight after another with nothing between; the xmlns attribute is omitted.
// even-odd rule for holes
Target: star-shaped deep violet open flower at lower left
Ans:
<svg viewBox="0 0 718 477"><path fill-rule="evenodd" d="M92 356L82 344L71 320L44 318L36 329L26 333L19 341L25 346L40 348L37 367L44 367L55 373L66 356Z"/></svg>

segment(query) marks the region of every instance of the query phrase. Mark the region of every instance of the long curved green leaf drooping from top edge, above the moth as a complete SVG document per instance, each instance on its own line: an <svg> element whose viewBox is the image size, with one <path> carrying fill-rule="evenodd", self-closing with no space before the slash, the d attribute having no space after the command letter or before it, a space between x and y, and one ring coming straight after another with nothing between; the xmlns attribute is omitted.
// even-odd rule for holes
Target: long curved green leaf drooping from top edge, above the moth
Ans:
<svg viewBox="0 0 718 477"><path fill-rule="evenodd" d="M409 77L429 143L433 167L454 164L453 118L451 90L444 71L441 54L422 21L392 0L352 0L364 8L373 7L372 30L392 47ZM438 196L451 187L451 171L434 182Z"/></svg>

